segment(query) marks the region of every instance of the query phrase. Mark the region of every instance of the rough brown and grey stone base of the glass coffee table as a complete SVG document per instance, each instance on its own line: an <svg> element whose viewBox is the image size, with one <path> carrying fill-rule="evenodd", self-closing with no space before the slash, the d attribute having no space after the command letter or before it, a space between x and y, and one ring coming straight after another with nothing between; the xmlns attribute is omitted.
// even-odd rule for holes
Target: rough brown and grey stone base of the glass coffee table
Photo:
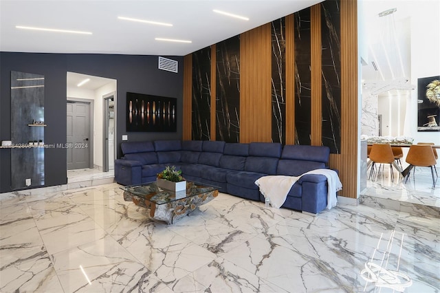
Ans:
<svg viewBox="0 0 440 293"><path fill-rule="evenodd" d="M124 191L124 200L126 202L133 201L136 206L142 206L142 208L148 209L152 219L166 221L166 224L170 225L192 213L198 206L210 202L214 197L217 197L217 195L219 195L218 190L208 191L199 195L167 202L166 204L155 204L148 199Z"/></svg>

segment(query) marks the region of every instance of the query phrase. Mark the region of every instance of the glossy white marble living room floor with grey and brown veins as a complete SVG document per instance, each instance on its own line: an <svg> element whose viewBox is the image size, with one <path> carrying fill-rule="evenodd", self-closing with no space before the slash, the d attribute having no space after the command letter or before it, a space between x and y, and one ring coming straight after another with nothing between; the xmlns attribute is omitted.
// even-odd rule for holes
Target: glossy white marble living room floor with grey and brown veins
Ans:
<svg viewBox="0 0 440 293"><path fill-rule="evenodd" d="M119 187L1 194L0 292L440 291L428 214L370 202L314 217L220 193L167 226Z"/></svg>

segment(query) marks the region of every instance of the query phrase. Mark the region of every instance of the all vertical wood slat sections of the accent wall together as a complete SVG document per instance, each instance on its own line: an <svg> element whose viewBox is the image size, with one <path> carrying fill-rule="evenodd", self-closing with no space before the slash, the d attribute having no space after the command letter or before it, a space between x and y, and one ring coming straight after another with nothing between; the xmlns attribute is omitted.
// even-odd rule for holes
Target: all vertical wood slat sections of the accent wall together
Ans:
<svg viewBox="0 0 440 293"><path fill-rule="evenodd" d="M340 0L341 17L341 153L331 154L329 165L338 169L343 189L340 195L357 198L358 193L358 21L357 2ZM321 26L320 5L311 7L311 144L320 145ZM294 143L294 17L286 17L286 143ZM270 142L271 28L270 23L240 36L240 142ZM212 80L215 80L215 47L212 49ZM191 139L191 55L184 58L184 139ZM214 83L212 83L214 84ZM215 93L215 85L211 92ZM212 101L215 97L212 97ZM211 103L215 105L215 102ZM189 121L188 121L189 120ZM211 139L215 140L215 109L211 109ZM188 134L189 133L189 134ZM189 136L188 136L189 135Z"/></svg>

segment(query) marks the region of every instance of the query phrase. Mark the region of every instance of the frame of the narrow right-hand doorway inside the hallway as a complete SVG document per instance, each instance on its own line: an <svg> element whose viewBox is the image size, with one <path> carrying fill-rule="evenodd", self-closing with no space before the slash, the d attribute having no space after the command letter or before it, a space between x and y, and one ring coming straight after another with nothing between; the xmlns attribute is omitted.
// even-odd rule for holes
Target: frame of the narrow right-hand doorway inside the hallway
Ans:
<svg viewBox="0 0 440 293"><path fill-rule="evenodd" d="M109 100L113 98L113 160L116 159L116 92L102 96L102 171L109 171L109 144L107 142L107 133L109 132L109 118L107 109L109 108Z"/></svg>

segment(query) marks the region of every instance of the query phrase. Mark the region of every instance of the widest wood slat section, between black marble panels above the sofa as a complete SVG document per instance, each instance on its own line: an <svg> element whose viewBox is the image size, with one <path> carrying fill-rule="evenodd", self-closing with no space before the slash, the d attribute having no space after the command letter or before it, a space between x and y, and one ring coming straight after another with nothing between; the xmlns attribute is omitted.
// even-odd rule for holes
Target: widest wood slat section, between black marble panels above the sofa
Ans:
<svg viewBox="0 0 440 293"><path fill-rule="evenodd" d="M240 35L240 142L272 140L271 25Z"/></svg>

